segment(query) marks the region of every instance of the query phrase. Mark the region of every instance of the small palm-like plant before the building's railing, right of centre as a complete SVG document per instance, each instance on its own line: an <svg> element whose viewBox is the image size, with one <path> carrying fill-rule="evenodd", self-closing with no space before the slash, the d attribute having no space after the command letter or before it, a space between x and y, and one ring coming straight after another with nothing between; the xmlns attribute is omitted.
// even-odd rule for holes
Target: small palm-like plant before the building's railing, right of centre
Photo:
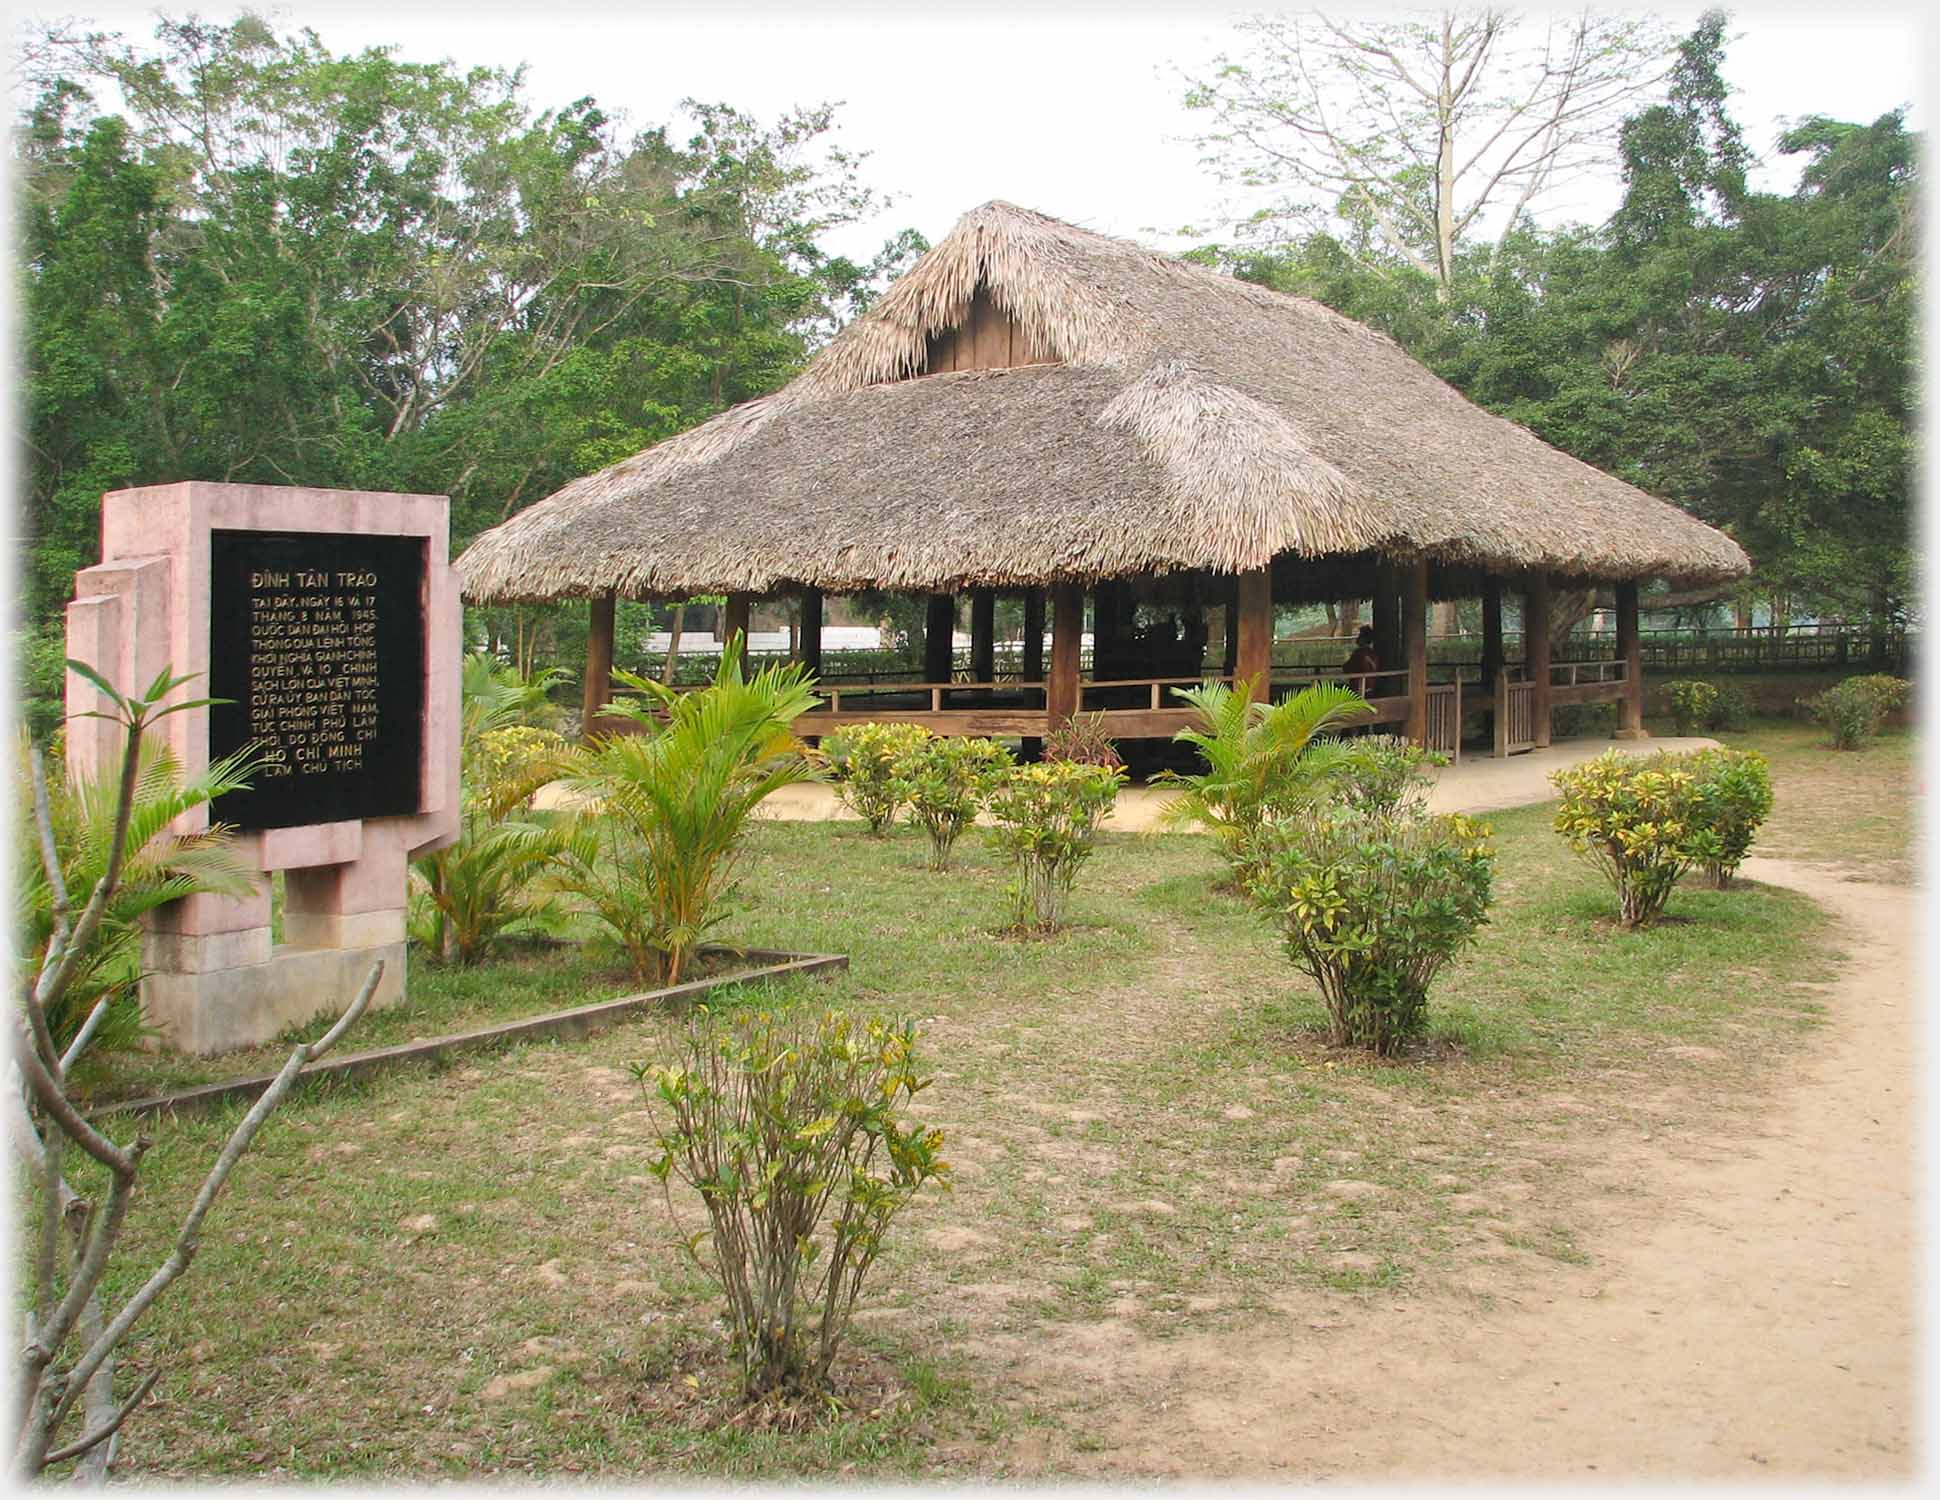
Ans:
<svg viewBox="0 0 1940 1500"><path fill-rule="evenodd" d="M1261 823L1323 794L1344 755L1341 741L1323 735L1370 712L1360 693L1333 683L1275 704L1255 702L1251 683L1207 681L1180 697L1199 712L1199 728L1174 739L1195 745L1207 768L1156 778L1181 788L1164 821L1203 825L1236 867Z"/></svg>

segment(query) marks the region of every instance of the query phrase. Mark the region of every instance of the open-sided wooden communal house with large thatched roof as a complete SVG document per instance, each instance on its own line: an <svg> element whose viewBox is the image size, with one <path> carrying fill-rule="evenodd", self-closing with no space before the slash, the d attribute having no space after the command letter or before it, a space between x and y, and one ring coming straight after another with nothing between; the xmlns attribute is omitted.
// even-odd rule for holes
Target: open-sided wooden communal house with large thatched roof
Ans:
<svg viewBox="0 0 1940 1500"><path fill-rule="evenodd" d="M458 569L483 603L594 602L588 724L615 598L726 594L729 629L745 629L753 598L797 596L819 669L824 592L929 594L925 681L823 677L813 732L906 718L1026 739L1081 708L1133 739L1185 724L1201 605L1224 605L1224 675L1269 697L1277 602L1372 598L1379 669L1354 681L1375 720L1459 749L1463 712L1484 708L1509 753L1548 743L1560 702L1618 702L1622 732L1641 734L1637 580L1721 582L1750 565L1319 303L986 204L786 388L572 481ZM1616 664L1550 660L1558 582L1616 586ZM951 654L964 590L974 691ZM997 590L1024 594L1022 660L1003 681ZM1504 654L1507 590L1523 596L1521 664ZM1482 664L1465 699L1463 668L1432 681L1426 611L1476 596ZM1168 598L1183 603L1170 640L1135 607Z"/></svg>

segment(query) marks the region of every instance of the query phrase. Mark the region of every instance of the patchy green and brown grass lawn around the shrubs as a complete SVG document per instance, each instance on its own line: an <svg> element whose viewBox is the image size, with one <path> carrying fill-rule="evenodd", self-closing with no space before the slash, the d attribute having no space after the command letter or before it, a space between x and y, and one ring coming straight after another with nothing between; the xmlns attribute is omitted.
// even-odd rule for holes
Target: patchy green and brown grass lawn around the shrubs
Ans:
<svg viewBox="0 0 1940 1500"><path fill-rule="evenodd" d="M1732 737L1773 761L1769 852L1905 879L1911 735L1833 755L1814 734ZM768 1003L916 1015L935 1073L918 1102L954 1164L871 1275L850 1409L726 1420L716 1306L646 1176L625 1069L663 1032L642 1021L291 1100L144 1323L130 1360L169 1374L122 1467L1034 1473L1018 1455L1083 1448L1096 1411L1084 1389L1013 1387L1022 1343L1540 1285L1593 1254L1600 1203L1647 1193L1637 1141L1760 1104L1837 961L1818 908L1773 887L1692 887L1657 929L1614 931L1600 877L1548 821L1488 819L1496 920L1434 992L1428 1044L1393 1063L1319 1040L1317 997L1212 893L1203 838L1106 836L1075 926L1013 941L978 838L935 875L914 832L757 825L724 935L850 955L846 976ZM417 964L413 1005L427 978L456 982ZM497 990L489 1005L549 986L530 1005L547 1009L599 978L553 957L464 982ZM233 1120L157 1131L130 1219L144 1267L171 1234L159 1205L186 1199ZM118 1271L116 1302L138 1273Z"/></svg>

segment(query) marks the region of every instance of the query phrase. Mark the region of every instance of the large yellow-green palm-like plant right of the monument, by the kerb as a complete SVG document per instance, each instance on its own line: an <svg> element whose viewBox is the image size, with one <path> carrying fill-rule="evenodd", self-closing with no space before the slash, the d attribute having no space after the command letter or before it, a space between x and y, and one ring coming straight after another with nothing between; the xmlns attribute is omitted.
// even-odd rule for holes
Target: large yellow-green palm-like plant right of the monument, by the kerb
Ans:
<svg viewBox="0 0 1940 1500"><path fill-rule="evenodd" d="M735 636L714 681L691 693L615 671L638 697L605 712L632 732L566 757L566 786L586 805L574 815L561 885L613 929L642 980L679 984L724 916L747 819L770 792L815 778L790 728L815 706L807 668L751 679L741 650Z"/></svg>

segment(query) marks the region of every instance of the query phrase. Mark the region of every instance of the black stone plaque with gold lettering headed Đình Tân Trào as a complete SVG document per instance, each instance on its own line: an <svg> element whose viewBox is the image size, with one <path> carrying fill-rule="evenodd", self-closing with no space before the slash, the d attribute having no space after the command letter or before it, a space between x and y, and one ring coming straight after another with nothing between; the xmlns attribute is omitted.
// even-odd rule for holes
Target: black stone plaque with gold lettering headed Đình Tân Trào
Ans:
<svg viewBox="0 0 1940 1500"><path fill-rule="evenodd" d="M210 759L268 761L215 801L239 829L415 813L425 539L210 532Z"/></svg>

